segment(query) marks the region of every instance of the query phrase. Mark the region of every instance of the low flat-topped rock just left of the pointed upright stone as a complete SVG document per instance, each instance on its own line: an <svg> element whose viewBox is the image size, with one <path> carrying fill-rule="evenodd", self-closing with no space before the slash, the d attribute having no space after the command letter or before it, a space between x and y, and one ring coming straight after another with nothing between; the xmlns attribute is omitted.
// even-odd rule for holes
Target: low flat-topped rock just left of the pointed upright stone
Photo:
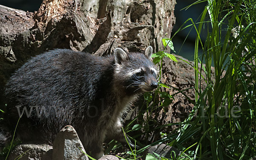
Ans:
<svg viewBox="0 0 256 160"><path fill-rule="evenodd" d="M43 160L41 157L51 150L52 146L48 144L21 144L15 146L8 160L14 160L21 157L19 160ZM46 160L46 159L44 159ZM50 160L50 159L47 159Z"/></svg>

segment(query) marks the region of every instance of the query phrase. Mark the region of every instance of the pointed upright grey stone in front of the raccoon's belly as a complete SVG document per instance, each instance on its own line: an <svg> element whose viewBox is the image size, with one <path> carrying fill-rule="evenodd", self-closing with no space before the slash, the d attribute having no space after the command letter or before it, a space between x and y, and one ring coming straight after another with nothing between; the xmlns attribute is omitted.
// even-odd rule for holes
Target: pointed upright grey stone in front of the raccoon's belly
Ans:
<svg viewBox="0 0 256 160"><path fill-rule="evenodd" d="M53 142L53 160L89 160L84 147L72 126L65 126Z"/></svg>

